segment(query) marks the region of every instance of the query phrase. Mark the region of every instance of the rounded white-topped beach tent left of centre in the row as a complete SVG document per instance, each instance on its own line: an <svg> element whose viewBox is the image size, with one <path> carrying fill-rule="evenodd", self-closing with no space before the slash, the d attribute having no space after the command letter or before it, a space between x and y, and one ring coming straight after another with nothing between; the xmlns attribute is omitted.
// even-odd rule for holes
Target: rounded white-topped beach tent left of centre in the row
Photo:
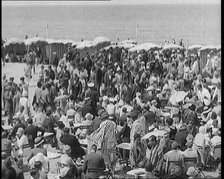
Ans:
<svg viewBox="0 0 224 179"><path fill-rule="evenodd" d="M87 52L89 53L89 55L93 55L97 52L96 46L93 41L88 40L80 42L76 46L76 49L78 50L81 59L86 57Z"/></svg>

